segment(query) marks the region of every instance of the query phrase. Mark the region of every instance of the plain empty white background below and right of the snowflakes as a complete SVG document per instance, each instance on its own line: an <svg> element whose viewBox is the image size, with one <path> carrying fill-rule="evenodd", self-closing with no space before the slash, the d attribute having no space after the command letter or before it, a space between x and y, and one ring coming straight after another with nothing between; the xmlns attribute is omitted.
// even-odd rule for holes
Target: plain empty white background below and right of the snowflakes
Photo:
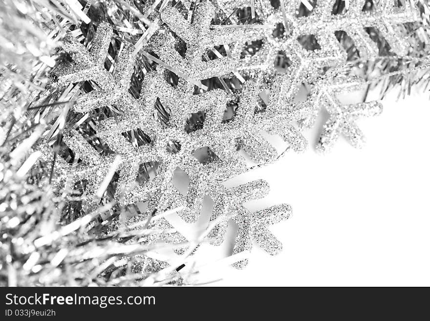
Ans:
<svg viewBox="0 0 430 321"><path fill-rule="evenodd" d="M271 257L255 246L244 270L215 264L232 247L231 227L222 246L200 247L195 259L208 264L194 279L222 278L211 283L222 286L430 286L428 104L428 92L389 97L382 115L358 122L363 149L340 139L327 155L290 152L229 182L269 182L267 197L246 204L251 210L292 205L293 216L270 228L283 251ZM315 141L319 130L308 137Z"/></svg>

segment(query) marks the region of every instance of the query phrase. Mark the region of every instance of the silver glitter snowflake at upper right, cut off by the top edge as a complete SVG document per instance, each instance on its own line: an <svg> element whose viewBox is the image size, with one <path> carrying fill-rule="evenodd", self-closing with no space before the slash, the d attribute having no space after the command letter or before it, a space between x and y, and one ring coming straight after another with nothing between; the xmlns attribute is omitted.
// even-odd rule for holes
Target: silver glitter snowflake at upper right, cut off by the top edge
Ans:
<svg viewBox="0 0 430 321"><path fill-rule="evenodd" d="M257 25L272 26L272 28L267 28L265 33L259 32L254 35L257 38L261 35L263 37L261 38L261 48L253 55L239 57L240 49L234 51L236 60L243 61L243 68L238 66L239 70L253 68L262 71L262 74L276 73L274 70L277 63L276 59L283 56L283 64L286 65L282 67L285 69L285 74L274 76L267 110L276 110L274 112L276 115L290 116L290 122L287 125L275 120L276 129L274 132L284 137L286 141L293 139L296 143L296 150L302 150L306 146L306 142L291 125L291 120L300 121L300 117L291 117L291 109L297 110L293 101L302 83L316 81L318 76L323 73L324 68L339 66L346 62L346 52L336 38L336 34L346 33L355 44L360 59L364 60L375 59L379 50L377 43L365 31L369 27L379 30L382 37L390 45L391 50L398 56L407 55L409 52L409 43L396 31L403 23L419 19L416 14L417 8L408 3L403 7L397 7L393 1L379 1L372 3L371 6L366 5L367 2L364 0L350 2L342 13L333 15L332 10L335 1L318 1L316 5L311 5L309 1L306 1L306 15L299 17L298 8L304 5L304 1L288 1L285 5L269 0L258 1L254 8ZM218 0L217 4L226 14L229 14L237 12L240 8L246 8L250 2ZM277 5L278 7L275 8ZM249 13L249 10L246 12ZM236 23L241 23L243 18L233 14L230 19ZM236 46L235 48L240 47ZM376 102L341 108L342 104L333 96L341 90L347 92L356 90L359 80L357 78L343 78L347 84L336 90L333 86L331 89L328 88L329 83L336 83L337 81L319 82L315 86L316 93L305 103L305 105L312 105L311 109L314 110L313 114L315 114L321 104L327 102L326 100L323 101L323 97L330 101L326 107L331 118L324 127L317 147L319 150L328 150L340 132L345 134L353 146L362 146L363 135L353 124L353 120L359 116L376 115L381 109L380 104ZM296 106L300 106L299 110L301 110L302 115L305 114L303 111L308 106L303 106L303 104L296 104ZM273 116L272 114L272 119L274 119ZM307 119L305 122L307 125L313 125L313 121L309 121L309 119L314 119L313 116L303 118ZM282 129L284 129L283 133Z"/></svg>

